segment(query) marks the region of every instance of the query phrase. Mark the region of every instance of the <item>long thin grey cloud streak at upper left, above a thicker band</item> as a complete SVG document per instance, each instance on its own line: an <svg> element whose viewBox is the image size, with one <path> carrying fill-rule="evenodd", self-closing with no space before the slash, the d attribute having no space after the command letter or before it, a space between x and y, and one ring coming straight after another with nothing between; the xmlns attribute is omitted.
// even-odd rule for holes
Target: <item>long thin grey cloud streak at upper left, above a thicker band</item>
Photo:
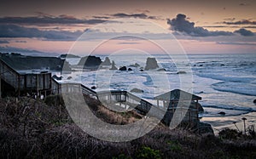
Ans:
<svg viewBox="0 0 256 159"><path fill-rule="evenodd" d="M107 20L100 19L89 19L81 20L77 19L72 15L61 14L59 16L52 16L49 14L41 14L38 16L31 17L2 17L0 18L0 23L2 24L26 24L26 25L40 25L40 24L62 24L62 25L72 25L72 24L99 24L106 22Z"/></svg>

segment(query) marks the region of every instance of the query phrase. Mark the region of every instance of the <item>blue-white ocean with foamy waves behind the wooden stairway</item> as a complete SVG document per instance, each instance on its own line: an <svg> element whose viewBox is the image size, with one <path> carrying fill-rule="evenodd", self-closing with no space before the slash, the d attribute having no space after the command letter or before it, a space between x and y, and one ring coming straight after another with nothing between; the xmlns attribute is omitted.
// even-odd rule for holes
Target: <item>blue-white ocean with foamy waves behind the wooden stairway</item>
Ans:
<svg viewBox="0 0 256 159"><path fill-rule="evenodd" d="M106 57L99 56L102 60ZM140 67L146 65L148 56L154 57L160 68L166 71L141 71ZM256 99L256 54L190 54L186 60L184 56L170 57L166 54L110 55L108 58L118 68L125 65L132 71L109 71L108 67L98 71L78 70L61 75L62 82L81 82L89 88L96 86L96 91L131 91L132 88L140 88L143 93L133 94L154 103L154 96L181 88L181 81L184 80L181 80L181 74L177 74L177 71L185 71L189 75L191 73L189 91L202 98L200 103L205 110L200 114L202 121L223 128L232 122L241 122L241 116L250 115L247 122L256 122L256 116L251 116L256 111L253 103ZM67 60L72 65L79 62L79 59ZM135 63L140 66L132 66ZM72 78L67 80L67 77ZM225 115L218 114L221 111Z"/></svg>

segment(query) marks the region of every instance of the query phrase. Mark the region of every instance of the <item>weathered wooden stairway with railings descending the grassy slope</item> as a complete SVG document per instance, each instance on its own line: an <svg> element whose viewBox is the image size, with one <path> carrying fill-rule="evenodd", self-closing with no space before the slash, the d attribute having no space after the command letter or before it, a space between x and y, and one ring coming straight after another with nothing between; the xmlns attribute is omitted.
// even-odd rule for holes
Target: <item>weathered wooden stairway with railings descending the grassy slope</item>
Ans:
<svg viewBox="0 0 256 159"><path fill-rule="evenodd" d="M169 105L169 101L165 101L165 105L160 107L159 105L153 105L147 100L141 99L127 91L109 90L96 92L90 88L87 88L81 83L59 83L51 77L51 73L49 72L20 73L19 71L15 71L1 59L0 76L1 82L3 81L6 83L6 85L9 85L9 87L13 88L15 94L18 96L22 94L36 94L37 97L40 97L41 95L44 95L45 97L49 94L82 93L89 95L91 98L100 99L103 105L124 106L125 109L135 109L143 115L154 116L160 120L166 117L167 120L165 120L168 122L171 121L171 118L177 109L175 105L172 105L172 109L170 109L168 106L165 107L165 105ZM3 88L0 90L2 92ZM166 94L172 95L172 92ZM162 94L155 99L159 100L161 99L160 97L163 97L166 94ZM195 96L192 95L192 97ZM184 119L186 119L187 122L198 120L198 99L201 98L196 98L195 108L189 108L188 112L185 110L185 113L187 113L188 116ZM157 103L159 104L159 101ZM191 112L193 113L193 116L191 115ZM166 114L167 116L165 116Z"/></svg>

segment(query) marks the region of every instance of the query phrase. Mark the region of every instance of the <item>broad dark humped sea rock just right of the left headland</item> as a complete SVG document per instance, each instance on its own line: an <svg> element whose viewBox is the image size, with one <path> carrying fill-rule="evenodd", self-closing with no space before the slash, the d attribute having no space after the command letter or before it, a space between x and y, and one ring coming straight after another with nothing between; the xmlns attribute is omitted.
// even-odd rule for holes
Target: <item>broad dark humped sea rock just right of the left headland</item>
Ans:
<svg viewBox="0 0 256 159"><path fill-rule="evenodd" d="M83 65L84 68L86 67L99 67L102 64L102 60L96 56L85 56L81 58L78 65Z"/></svg>

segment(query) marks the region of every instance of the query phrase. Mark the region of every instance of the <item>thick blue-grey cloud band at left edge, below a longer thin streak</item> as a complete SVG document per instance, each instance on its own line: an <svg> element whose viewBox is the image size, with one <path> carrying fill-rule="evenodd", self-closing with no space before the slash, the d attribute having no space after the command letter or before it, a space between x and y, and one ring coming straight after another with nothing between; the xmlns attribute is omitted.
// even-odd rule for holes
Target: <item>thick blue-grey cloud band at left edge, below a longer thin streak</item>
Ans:
<svg viewBox="0 0 256 159"><path fill-rule="evenodd" d="M41 31L37 28L27 28L15 25L0 25L0 37L38 37L46 40L75 40L82 31Z"/></svg>

